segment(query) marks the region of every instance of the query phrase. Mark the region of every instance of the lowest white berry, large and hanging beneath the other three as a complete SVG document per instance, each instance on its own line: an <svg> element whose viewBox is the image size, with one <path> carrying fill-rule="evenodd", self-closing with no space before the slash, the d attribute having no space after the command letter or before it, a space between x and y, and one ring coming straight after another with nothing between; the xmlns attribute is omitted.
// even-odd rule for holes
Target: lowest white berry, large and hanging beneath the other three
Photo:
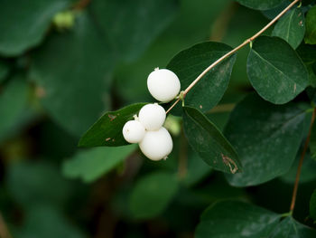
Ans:
<svg viewBox="0 0 316 238"><path fill-rule="evenodd" d="M172 137L165 128L154 131L146 131L139 148L144 155L152 160L166 158L172 152Z"/></svg>

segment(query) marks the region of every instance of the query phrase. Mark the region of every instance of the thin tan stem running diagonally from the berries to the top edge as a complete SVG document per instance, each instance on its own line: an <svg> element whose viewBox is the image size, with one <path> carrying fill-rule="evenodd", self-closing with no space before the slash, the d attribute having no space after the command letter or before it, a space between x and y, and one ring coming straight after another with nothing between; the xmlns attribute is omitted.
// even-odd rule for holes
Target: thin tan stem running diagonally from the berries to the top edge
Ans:
<svg viewBox="0 0 316 238"><path fill-rule="evenodd" d="M188 92L195 86L195 84L197 84L201 78L203 78L203 76L205 76L205 74L207 74L208 71L210 71L211 69L213 69L216 65L218 65L219 62L224 61L225 59L227 59L229 56L231 56L232 54L234 54L235 52L239 51L241 48L243 48L246 44L248 43L252 43L256 37L258 37L260 34L264 33L271 25L273 25L277 20L279 20L283 14L285 14L287 11L289 11L293 5L297 4L298 2L300 2L301 0L294 0L290 5L288 5L280 14L278 14L277 16L274 17L274 19L265 25L264 28L262 28L258 33L254 34L252 37L248 38L244 43L239 44L235 49L233 49L232 51L226 53L225 55L223 55L222 57L220 57L216 62L213 62L212 64L209 65L208 68L206 68L204 71L202 71L200 73L200 75L198 76L198 78L196 78L194 81L191 82L191 84L188 86L188 88L186 90L184 90L182 92L183 95L183 99L185 98L185 96L188 94ZM180 100L176 100L172 106L170 107L170 109L167 110L166 113L168 113Z"/></svg>

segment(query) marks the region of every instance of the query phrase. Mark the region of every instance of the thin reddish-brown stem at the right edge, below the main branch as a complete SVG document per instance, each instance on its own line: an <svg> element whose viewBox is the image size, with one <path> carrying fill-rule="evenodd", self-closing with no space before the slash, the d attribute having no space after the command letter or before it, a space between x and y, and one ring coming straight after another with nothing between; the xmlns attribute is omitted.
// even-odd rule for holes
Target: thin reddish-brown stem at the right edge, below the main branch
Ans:
<svg viewBox="0 0 316 238"><path fill-rule="evenodd" d="M295 177L295 183L294 183L294 187L293 187L293 195L292 195L292 202L291 202L291 206L290 206L290 213L293 213L294 207L295 207L295 201L296 201L296 195L297 195L297 189L299 186L299 181L300 181L300 176L301 176L301 170L302 170L302 161L304 160L307 148L310 144L310 139L311 139L311 129L312 129L312 125L314 124L315 121L315 115L316 115L316 108L313 109L312 111L312 116L311 116L311 125L310 125L310 129L304 144L304 148L302 149L302 155L300 158L300 162L299 162L299 166L297 167L297 172L296 172L296 177Z"/></svg>

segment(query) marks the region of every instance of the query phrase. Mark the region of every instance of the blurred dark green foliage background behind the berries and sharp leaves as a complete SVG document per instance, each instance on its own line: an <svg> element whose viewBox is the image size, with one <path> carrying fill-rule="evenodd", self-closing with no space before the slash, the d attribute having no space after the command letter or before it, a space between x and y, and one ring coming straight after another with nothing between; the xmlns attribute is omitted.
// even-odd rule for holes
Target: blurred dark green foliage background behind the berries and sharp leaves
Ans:
<svg viewBox="0 0 316 238"><path fill-rule="evenodd" d="M160 162L134 146L77 148L103 112L153 101L146 79L155 67L166 67L196 43L237 46L289 3L271 2L276 8L261 12L230 0L1 1L0 236L6 227L14 238L192 237L202 211L223 199L264 206L273 217L287 212L297 161L284 176L237 188L192 151L183 133ZM312 36L313 28L308 31ZM314 46L298 48L310 66L310 83L316 79ZM251 90L248 52L238 52L226 94L206 112L220 130ZM306 129L300 130L305 138ZM316 162L305 160L293 216L312 226Z"/></svg>

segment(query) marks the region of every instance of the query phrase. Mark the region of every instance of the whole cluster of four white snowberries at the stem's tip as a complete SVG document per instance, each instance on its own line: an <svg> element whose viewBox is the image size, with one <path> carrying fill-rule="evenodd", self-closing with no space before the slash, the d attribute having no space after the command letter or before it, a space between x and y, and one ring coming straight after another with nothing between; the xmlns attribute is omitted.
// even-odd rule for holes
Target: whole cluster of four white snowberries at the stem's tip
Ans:
<svg viewBox="0 0 316 238"><path fill-rule="evenodd" d="M177 75L169 70L154 69L147 79L147 87L153 98L161 102L173 100L180 91ZM158 103L144 105L138 117L129 120L123 128L123 136L129 143L139 143L144 155L152 160L161 160L172 152L172 137L163 128L166 112Z"/></svg>

